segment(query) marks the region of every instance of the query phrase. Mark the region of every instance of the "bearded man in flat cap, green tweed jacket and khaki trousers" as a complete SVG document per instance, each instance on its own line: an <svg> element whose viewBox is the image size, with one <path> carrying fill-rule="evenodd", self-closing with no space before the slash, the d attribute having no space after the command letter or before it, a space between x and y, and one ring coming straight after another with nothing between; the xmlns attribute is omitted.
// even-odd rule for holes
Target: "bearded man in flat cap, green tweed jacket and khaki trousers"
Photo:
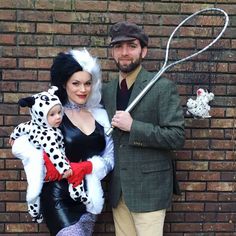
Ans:
<svg viewBox="0 0 236 236"><path fill-rule="evenodd" d="M104 84L103 103L114 127L110 200L116 235L161 236L174 189L171 150L184 145L180 98L175 84L160 78L130 113L124 111L155 73L141 66L148 36L140 27L119 22L110 37L119 76Z"/></svg>

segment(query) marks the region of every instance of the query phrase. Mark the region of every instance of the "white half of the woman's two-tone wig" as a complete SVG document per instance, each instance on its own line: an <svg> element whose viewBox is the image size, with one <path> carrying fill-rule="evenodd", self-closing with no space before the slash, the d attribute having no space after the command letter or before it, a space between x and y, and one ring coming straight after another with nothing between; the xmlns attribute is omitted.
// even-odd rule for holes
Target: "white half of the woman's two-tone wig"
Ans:
<svg viewBox="0 0 236 236"><path fill-rule="evenodd" d="M92 75L92 91L86 103L87 108L94 108L100 106L101 101L101 68L97 59L92 57L84 48L82 50L71 50L69 52L73 58L80 64L83 71L87 71Z"/></svg>

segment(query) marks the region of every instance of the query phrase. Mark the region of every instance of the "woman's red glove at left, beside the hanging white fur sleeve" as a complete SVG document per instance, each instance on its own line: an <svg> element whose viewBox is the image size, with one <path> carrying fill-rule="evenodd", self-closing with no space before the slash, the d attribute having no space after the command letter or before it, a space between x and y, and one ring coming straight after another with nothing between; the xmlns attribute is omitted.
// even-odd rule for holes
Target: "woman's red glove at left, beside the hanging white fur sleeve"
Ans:
<svg viewBox="0 0 236 236"><path fill-rule="evenodd" d="M52 164L46 152L43 152L43 159L44 159L44 165L47 169L44 180L45 181L61 180L62 175L57 171L55 166Z"/></svg>

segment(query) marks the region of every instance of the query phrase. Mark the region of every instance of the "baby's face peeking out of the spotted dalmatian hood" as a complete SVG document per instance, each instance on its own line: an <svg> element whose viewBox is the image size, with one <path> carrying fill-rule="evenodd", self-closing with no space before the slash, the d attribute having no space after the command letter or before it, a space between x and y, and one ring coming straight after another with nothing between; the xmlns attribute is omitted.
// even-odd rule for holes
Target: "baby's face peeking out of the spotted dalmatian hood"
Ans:
<svg viewBox="0 0 236 236"><path fill-rule="evenodd" d="M58 104L58 105L53 106L49 110L48 115L47 115L48 124L51 127L58 128L59 125L61 124L62 116L63 116L63 112L62 112L61 105Z"/></svg>

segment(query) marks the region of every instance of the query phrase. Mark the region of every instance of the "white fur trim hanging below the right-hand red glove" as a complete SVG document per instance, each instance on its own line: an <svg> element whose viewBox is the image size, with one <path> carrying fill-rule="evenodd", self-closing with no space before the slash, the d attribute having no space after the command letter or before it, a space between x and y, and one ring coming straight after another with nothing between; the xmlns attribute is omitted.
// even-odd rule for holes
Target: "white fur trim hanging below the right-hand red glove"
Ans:
<svg viewBox="0 0 236 236"><path fill-rule="evenodd" d="M100 214L102 212L104 204L101 181L93 173L86 175L85 179L87 181L88 188L87 194L90 200L90 203L86 205L86 209L92 214Z"/></svg>

